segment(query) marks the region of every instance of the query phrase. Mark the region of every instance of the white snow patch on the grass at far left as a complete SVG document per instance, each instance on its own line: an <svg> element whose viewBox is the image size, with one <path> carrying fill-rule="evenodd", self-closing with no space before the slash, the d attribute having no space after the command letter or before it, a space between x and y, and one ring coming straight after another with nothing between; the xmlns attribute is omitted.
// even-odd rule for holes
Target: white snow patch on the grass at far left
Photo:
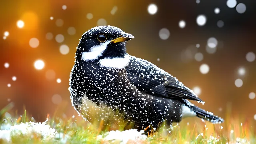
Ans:
<svg viewBox="0 0 256 144"><path fill-rule="evenodd" d="M42 124L40 122L26 122L11 126L10 129L0 130L0 139L10 142L14 136L30 136L31 138L35 136L41 140L55 138L56 131L46 124L47 120Z"/></svg>

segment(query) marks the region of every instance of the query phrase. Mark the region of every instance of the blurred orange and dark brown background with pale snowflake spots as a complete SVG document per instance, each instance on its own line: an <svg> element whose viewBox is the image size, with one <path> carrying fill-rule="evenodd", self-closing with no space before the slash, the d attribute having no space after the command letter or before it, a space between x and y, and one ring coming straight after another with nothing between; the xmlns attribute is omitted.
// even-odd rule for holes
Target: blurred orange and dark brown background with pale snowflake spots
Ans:
<svg viewBox="0 0 256 144"><path fill-rule="evenodd" d="M0 109L13 102L37 121L77 116L68 91L88 29L134 35L127 52L194 90L200 107L256 121L255 0L1 0ZM195 118L189 119L194 121Z"/></svg>

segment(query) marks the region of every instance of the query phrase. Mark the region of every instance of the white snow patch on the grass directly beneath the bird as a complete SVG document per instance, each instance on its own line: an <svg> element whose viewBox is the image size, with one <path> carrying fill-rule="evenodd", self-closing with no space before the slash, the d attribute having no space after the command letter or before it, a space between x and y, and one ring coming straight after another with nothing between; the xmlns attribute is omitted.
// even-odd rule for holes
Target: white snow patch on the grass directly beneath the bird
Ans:
<svg viewBox="0 0 256 144"><path fill-rule="evenodd" d="M97 138L104 141L120 141L121 144L126 144L132 140L136 143L139 140L146 140L147 136L143 134L144 130L138 132L136 129L130 129L120 132L119 130L112 130L106 134L99 135Z"/></svg>

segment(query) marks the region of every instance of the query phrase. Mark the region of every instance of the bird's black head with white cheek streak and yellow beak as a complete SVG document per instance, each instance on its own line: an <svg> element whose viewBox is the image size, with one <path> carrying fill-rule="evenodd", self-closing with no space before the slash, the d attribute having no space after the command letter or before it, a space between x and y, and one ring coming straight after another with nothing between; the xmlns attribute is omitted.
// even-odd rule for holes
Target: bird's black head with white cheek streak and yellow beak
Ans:
<svg viewBox="0 0 256 144"><path fill-rule="evenodd" d="M85 32L76 50L76 60L124 58L126 41L134 38L114 26L98 26Z"/></svg>

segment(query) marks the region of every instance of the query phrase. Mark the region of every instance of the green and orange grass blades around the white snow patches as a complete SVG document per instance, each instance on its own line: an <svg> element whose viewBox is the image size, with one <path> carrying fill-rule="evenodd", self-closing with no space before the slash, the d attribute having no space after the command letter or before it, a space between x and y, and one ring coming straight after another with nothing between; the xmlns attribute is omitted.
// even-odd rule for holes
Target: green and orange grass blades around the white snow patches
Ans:
<svg viewBox="0 0 256 144"><path fill-rule="evenodd" d="M5 113L10 111L12 106L9 104L2 110L0 110L0 126L11 124L16 125L24 122L35 122L34 118L28 116L26 110L22 116L14 116L12 118L6 118ZM119 144L118 141L105 141L97 139L98 135L103 137L108 134L106 131L99 131L93 125L89 124L84 120L79 122L76 118L70 118L62 120L54 116L48 116L49 120L47 122L51 128L55 128L58 133L63 134L63 136L68 135L66 143L71 144L103 144L103 143L114 143ZM239 138L240 143L256 143L256 130L252 124L244 120L236 120L226 116L226 121L223 124L211 124L209 122L202 122L199 120L191 119L190 124L187 120L184 120L179 125L173 124L173 129L171 134L164 132L156 132L153 134L148 134L146 140L129 141L130 144L236 144L236 140ZM242 126L241 126L242 123ZM223 129L221 128L223 126ZM231 133L231 131L233 131ZM49 140L42 140L40 136L30 135L15 135L11 138L12 143L17 144L34 144L34 143L62 143L62 140L58 138L52 138ZM0 139L1 143L7 143Z"/></svg>

